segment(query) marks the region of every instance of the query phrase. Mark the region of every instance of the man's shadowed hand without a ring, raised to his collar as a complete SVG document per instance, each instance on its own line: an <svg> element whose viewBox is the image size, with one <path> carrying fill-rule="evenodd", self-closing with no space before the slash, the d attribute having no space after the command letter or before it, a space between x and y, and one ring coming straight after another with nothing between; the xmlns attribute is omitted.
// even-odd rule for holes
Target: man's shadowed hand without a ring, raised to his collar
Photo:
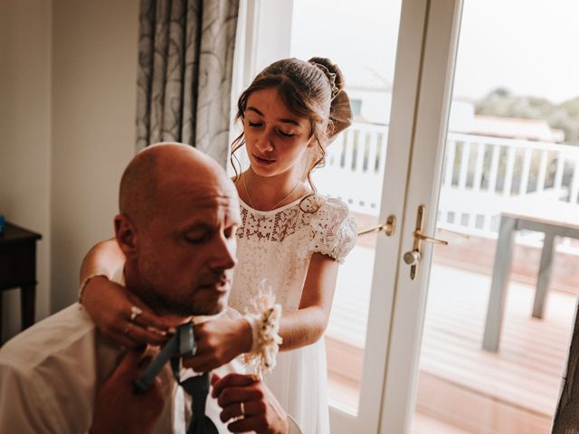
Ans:
<svg viewBox="0 0 579 434"><path fill-rule="evenodd" d="M133 392L132 382L150 360L142 351L129 351L100 387L94 406L90 434L151 432L165 400L157 382L143 394Z"/></svg>

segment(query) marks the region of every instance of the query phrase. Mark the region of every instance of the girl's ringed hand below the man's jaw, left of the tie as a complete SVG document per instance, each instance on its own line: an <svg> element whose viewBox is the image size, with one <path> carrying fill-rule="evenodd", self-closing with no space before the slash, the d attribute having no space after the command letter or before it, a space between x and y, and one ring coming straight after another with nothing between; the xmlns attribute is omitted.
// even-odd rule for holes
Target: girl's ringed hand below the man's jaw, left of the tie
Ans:
<svg viewBox="0 0 579 434"><path fill-rule="evenodd" d="M81 303L100 333L116 344L134 348L166 342L169 325L164 319L156 316L137 296L108 278L90 278ZM133 307L138 307L140 313L131 320Z"/></svg>

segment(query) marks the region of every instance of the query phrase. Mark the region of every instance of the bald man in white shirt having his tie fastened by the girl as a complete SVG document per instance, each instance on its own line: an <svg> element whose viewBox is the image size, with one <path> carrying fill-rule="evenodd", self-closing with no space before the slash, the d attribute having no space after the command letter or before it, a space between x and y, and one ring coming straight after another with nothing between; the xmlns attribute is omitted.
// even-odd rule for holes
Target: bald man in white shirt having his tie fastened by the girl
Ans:
<svg viewBox="0 0 579 434"><path fill-rule="evenodd" d="M220 166L191 146L150 146L122 176L119 211L119 283L174 325L223 311L240 216ZM168 366L146 393L132 391L153 355L110 344L79 304L46 318L0 349L0 432L185 432L183 395ZM259 427L246 428L289 432L265 386L232 370L223 367L214 394L232 389L238 400L261 401ZM215 412L210 397L209 416L212 405ZM218 414L212 420L226 432Z"/></svg>

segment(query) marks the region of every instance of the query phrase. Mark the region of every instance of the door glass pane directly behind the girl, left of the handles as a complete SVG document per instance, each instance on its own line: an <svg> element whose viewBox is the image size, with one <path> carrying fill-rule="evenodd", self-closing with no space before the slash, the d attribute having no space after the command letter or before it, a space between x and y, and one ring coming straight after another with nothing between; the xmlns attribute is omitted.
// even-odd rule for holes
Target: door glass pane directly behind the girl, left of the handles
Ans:
<svg viewBox="0 0 579 434"><path fill-rule="evenodd" d="M344 72L354 124L327 148L314 173L319 193L347 203L358 229L380 209L401 1L294 0L291 56L327 57ZM375 234L360 237L340 267L327 326L330 403L356 413L364 360Z"/></svg>

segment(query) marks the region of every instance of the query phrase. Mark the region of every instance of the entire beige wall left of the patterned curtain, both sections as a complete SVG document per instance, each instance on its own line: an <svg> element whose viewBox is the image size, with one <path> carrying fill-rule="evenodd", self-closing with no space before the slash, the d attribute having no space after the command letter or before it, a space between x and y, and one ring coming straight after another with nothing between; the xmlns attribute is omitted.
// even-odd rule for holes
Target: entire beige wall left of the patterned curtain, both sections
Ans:
<svg viewBox="0 0 579 434"><path fill-rule="evenodd" d="M36 317L76 299L134 155L138 0L0 1L0 213L43 234ZM4 294L4 339L19 330Z"/></svg>

